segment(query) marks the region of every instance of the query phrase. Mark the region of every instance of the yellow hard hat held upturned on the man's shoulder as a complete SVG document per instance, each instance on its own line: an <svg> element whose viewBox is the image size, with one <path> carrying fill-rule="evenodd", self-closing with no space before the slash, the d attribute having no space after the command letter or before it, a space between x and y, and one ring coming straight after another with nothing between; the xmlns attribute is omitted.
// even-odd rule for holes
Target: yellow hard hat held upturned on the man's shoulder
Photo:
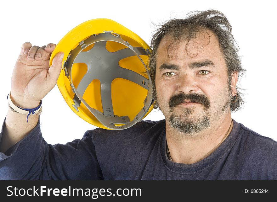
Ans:
<svg viewBox="0 0 277 202"><path fill-rule="evenodd" d="M146 72L150 48L110 19L86 21L68 32L50 57L65 53L58 88L68 106L88 123L126 129L153 109Z"/></svg>

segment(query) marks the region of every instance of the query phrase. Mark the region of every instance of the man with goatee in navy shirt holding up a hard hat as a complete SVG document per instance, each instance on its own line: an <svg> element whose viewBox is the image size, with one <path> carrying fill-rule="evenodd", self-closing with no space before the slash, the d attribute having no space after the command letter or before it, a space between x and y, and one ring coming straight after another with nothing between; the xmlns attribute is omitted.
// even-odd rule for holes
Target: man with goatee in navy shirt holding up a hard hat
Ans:
<svg viewBox="0 0 277 202"><path fill-rule="evenodd" d="M237 123L241 67L231 26L215 10L170 20L151 41L149 67L161 121L125 130L88 130L82 140L48 145L39 107L8 110L0 142L1 179L277 179L277 143ZM22 45L10 100L36 108L54 87L63 53ZM19 79L20 78L20 79ZM34 111L35 112L35 111Z"/></svg>

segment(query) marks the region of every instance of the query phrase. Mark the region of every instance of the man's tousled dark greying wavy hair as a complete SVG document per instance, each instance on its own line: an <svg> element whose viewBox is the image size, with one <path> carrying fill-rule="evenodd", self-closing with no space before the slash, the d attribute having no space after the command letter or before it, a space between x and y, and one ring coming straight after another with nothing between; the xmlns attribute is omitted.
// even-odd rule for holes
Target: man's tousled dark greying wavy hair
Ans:
<svg viewBox="0 0 277 202"><path fill-rule="evenodd" d="M189 13L186 16L186 19L169 20L163 25L158 26L158 29L155 30L155 34L151 39L151 54L148 61L149 69L147 72L152 79L154 109L159 109L155 86L155 74L157 52L162 38L169 36L172 39L171 45L167 48L168 51L170 46L174 44L176 45L182 40L194 40L196 38L196 34L204 30L210 30L217 36L218 43L228 68L228 85L230 91L232 73L238 73L239 78L243 75L245 69L242 68L240 56L238 55L239 47L231 33L232 27L223 13L211 9L202 12ZM238 86L236 86L236 88L237 98L234 96L232 97L232 100L230 100L231 111L239 110L244 106L242 93L238 91L238 89L242 89Z"/></svg>

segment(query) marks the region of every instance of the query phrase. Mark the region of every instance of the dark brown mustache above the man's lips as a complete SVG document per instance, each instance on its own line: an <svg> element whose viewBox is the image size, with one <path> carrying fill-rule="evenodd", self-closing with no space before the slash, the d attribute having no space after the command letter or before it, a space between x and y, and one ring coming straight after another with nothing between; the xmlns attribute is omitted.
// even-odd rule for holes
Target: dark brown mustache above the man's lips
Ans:
<svg viewBox="0 0 277 202"><path fill-rule="evenodd" d="M176 95L173 95L168 103L169 109L173 109L176 105L183 103L185 99L189 99L190 102L200 103L204 105L204 108L207 110L210 107L210 102L206 95L204 94L197 94L197 93L179 93Z"/></svg>

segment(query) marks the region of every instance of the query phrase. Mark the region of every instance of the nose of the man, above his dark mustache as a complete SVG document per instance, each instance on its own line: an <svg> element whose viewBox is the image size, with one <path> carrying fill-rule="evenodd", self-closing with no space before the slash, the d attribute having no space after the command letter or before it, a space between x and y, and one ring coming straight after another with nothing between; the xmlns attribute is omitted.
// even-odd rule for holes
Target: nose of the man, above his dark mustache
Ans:
<svg viewBox="0 0 277 202"><path fill-rule="evenodd" d="M199 90L195 77L190 74L180 76L176 84L178 86L178 91L185 94L196 93Z"/></svg>

